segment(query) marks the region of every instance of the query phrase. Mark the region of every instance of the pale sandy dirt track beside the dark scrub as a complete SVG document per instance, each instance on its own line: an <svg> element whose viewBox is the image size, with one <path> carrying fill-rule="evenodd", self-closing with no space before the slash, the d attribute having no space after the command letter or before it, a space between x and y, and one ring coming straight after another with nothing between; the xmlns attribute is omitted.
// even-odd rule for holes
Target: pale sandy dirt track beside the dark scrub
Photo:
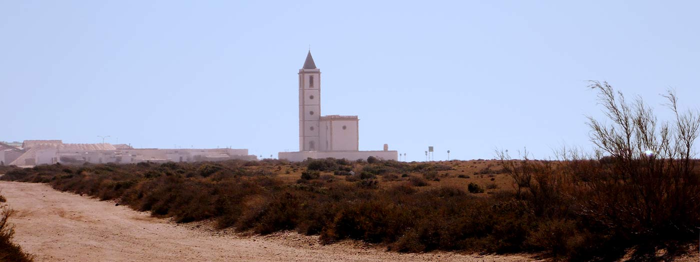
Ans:
<svg viewBox="0 0 700 262"><path fill-rule="evenodd" d="M241 236L207 223L175 224L46 184L0 182L15 210L15 242L36 261L533 261L451 252L398 254L358 242L318 245L297 233Z"/></svg>

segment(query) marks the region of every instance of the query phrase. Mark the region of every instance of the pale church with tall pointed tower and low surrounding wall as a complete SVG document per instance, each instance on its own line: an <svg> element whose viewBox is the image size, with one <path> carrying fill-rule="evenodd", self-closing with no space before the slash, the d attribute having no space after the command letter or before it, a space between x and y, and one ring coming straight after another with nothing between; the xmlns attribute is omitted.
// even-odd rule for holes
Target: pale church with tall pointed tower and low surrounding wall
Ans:
<svg viewBox="0 0 700 262"><path fill-rule="evenodd" d="M397 160L398 152L360 151L359 120L356 115L321 116L321 70L316 68L311 51L299 69L299 152L279 152L279 159L367 159Z"/></svg>

